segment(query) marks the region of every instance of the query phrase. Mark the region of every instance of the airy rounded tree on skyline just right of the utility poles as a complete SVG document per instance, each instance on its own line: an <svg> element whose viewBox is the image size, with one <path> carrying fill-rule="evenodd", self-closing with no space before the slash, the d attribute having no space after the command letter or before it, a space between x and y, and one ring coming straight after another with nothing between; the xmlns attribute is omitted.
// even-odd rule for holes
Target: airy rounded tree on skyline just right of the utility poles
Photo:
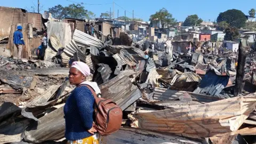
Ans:
<svg viewBox="0 0 256 144"><path fill-rule="evenodd" d="M149 19L152 23L153 21L161 22L162 28L164 26L173 25L177 20L172 17L172 14L169 13L165 8L157 11L155 14L150 15Z"/></svg>

